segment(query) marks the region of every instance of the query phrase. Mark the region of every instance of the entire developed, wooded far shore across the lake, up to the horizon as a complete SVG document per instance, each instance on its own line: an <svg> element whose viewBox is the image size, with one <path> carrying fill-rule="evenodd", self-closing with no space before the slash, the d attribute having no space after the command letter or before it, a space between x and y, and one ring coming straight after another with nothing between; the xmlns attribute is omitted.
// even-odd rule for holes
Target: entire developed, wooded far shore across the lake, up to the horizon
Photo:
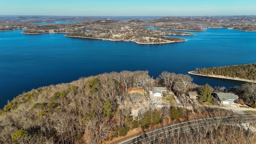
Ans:
<svg viewBox="0 0 256 144"><path fill-rule="evenodd" d="M0 17L0 31L24 29L24 34L68 33L66 36L104 40L133 41L138 44L184 42L174 35L194 35L188 31L205 31L203 27L256 31L255 16L162 17L156 19L122 19L118 17L13 16ZM34 24L34 22L73 21L69 24ZM154 29L148 29L151 27ZM89 33L89 34L87 34ZM166 37L173 35L174 37Z"/></svg>

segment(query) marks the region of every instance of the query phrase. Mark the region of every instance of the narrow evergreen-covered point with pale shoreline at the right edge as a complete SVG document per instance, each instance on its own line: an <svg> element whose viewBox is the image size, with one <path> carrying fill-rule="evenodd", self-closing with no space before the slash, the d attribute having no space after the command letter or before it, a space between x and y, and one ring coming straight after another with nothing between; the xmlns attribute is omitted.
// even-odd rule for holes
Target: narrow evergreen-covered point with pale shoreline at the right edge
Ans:
<svg viewBox="0 0 256 144"><path fill-rule="evenodd" d="M195 71L190 71L188 73L199 76L256 82L256 63L214 68L196 68Z"/></svg>

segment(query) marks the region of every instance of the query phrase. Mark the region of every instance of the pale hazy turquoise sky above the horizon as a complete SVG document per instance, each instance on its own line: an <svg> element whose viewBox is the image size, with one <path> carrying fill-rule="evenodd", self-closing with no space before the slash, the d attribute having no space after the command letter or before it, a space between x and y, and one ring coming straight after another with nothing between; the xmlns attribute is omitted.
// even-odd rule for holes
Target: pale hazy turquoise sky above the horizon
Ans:
<svg viewBox="0 0 256 144"><path fill-rule="evenodd" d="M0 15L256 15L256 0L0 0Z"/></svg>

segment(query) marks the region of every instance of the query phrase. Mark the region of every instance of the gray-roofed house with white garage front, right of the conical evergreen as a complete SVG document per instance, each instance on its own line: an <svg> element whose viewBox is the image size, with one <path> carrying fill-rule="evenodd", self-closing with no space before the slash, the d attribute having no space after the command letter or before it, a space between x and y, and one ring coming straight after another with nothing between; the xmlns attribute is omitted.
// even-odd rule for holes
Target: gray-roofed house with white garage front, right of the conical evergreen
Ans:
<svg viewBox="0 0 256 144"><path fill-rule="evenodd" d="M235 100L239 98L236 94L224 92L213 92L213 96L218 98L221 104L234 104Z"/></svg>

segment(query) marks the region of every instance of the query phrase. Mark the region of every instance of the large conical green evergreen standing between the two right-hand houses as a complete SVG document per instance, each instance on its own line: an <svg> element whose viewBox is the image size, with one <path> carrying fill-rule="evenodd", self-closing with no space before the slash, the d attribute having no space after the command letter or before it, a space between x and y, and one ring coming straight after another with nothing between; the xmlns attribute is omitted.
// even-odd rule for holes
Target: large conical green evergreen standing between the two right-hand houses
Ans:
<svg viewBox="0 0 256 144"><path fill-rule="evenodd" d="M202 86L200 89L200 94L199 94L199 100L203 102L211 102L212 101L212 90L209 84L205 84Z"/></svg>

